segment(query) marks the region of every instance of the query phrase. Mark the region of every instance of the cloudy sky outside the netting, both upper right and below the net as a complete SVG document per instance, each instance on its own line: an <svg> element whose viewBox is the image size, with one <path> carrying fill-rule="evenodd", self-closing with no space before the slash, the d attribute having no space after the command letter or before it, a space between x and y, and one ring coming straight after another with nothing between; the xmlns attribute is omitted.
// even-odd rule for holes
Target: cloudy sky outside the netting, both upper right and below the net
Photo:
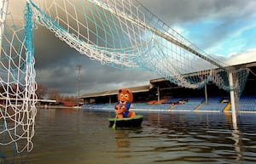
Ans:
<svg viewBox="0 0 256 164"><path fill-rule="evenodd" d="M256 1L254 0L138 0L160 20L207 54L228 65L256 61ZM148 71L123 71L90 60L59 41L42 26L35 30L37 82L61 94L77 95L77 66L81 65L80 95L147 85L160 77Z"/></svg>

